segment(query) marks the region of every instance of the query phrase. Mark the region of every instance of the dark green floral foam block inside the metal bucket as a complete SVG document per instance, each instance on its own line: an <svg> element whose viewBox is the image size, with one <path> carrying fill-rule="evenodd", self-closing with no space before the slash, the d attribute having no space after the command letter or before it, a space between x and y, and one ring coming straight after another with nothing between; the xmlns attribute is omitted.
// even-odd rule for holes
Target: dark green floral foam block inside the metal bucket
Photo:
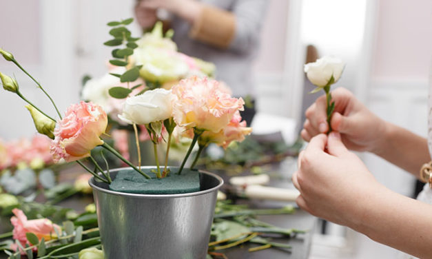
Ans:
<svg viewBox="0 0 432 259"><path fill-rule="evenodd" d="M121 170L110 184L110 189L131 194L187 194L200 191L200 176L196 170L183 169L178 175L178 168L172 168L167 177L158 179L150 171L152 169L141 169L152 179L145 178L134 169Z"/></svg>

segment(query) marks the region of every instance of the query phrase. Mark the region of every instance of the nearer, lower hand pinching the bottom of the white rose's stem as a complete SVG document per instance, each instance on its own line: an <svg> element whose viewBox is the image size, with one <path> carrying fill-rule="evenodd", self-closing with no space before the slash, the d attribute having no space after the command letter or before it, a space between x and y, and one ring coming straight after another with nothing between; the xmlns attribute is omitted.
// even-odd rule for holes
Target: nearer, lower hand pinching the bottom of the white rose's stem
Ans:
<svg viewBox="0 0 432 259"><path fill-rule="evenodd" d="M292 180L300 191L296 202L301 209L349 227L361 224L368 213L364 201L382 189L360 158L343 145L338 132L311 138L298 157Z"/></svg>

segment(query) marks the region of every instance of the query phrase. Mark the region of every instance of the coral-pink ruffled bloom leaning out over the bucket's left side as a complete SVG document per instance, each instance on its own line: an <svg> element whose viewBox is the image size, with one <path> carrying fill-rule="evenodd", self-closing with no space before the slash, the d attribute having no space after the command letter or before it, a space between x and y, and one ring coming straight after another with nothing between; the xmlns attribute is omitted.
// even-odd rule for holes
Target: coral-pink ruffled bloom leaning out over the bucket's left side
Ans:
<svg viewBox="0 0 432 259"><path fill-rule="evenodd" d="M107 127L107 114L93 103L71 105L54 130L51 154L54 162L63 158L66 162L90 156L90 150L103 141L99 136Z"/></svg>

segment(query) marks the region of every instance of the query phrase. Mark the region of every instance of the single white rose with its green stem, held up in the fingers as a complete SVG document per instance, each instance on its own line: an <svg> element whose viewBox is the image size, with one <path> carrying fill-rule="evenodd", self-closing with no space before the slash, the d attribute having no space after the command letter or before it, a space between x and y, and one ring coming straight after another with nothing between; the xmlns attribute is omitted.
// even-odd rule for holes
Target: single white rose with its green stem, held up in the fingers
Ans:
<svg viewBox="0 0 432 259"><path fill-rule="evenodd" d="M344 63L338 58L331 56L324 56L317 59L315 62L307 63L305 65L305 73L307 79L316 85L316 88L311 93L324 90L327 98L327 123L329 125L329 132L331 132L331 114L333 114L335 103L331 101L330 88L333 83L336 83L344 70ZM329 133L328 132L328 133Z"/></svg>

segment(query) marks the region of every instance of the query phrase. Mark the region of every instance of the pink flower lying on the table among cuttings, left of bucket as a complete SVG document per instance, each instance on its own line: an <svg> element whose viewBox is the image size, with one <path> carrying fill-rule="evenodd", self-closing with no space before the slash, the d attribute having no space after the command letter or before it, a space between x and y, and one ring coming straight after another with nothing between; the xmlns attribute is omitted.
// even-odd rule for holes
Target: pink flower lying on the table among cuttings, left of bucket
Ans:
<svg viewBox="0 0 432 259"><path fill-rule="evenodd" d="M51 220L48 220L47 218L27 220L27 217L25 216L24 212L21 211L21 209L15 208L12 209L12 212L15 215L10 218L10 222L12 222L12 225L14 226L14 230L12 231L13 238L15 240L19 240L23 247L25 247L25 244L30 245L25 233L31 232L35 234L37 238L39 238L39 241L42 238L44 238L46 241L50 240L51 237L56 237L54 228L56 228L58 231L61 231L61 228L58 225L53 224ZM17 244L11 245L11 248L17 251ZM25 253L21 251L21 254Z"/></svg>

